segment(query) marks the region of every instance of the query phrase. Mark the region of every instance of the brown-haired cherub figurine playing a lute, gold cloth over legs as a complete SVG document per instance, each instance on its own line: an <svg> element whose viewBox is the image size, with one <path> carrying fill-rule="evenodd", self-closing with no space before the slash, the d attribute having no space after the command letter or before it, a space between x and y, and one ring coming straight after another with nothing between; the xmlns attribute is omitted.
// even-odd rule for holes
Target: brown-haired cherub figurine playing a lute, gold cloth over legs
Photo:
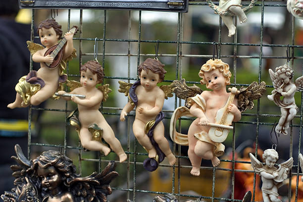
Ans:
<svg viewBox="0 0 303 202"><path fill-rule="evenodd" d="M54 67L49 67L54 61L54 57L51 54L45 55L45 53L58 44L62 36L61 25L54 19L47 19L40 22L37 30L41 44L45 47L29 41L27 44L28 49L33 54L33 61L40 62L40 69L31 71L27 76L19 79L19 83L15 87L16 100L8 104L8 108L26 107L29 104L38 105L52 97L58 89L63 88L62 85L67 79L67 75L63 74L66 62L76 57L76 50L73 45L74 33L69 31L65 33L64 41L61 41L66 43L62 54L60 54L62 56L61 62ZM60 44L62 44L61 42ZM58 99L55 96L53 98Z"/></svg>

